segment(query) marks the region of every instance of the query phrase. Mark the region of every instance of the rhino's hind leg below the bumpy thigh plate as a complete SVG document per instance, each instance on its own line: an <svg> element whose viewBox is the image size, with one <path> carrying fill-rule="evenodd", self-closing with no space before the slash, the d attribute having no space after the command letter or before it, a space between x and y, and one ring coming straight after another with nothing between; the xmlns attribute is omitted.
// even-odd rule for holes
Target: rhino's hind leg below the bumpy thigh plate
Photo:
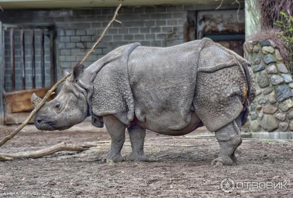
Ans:
<svg viewBox="0 0 293 198"><path fill-rule="evenodd" d="M212 165L232 165L236 162L235 150L241 144L241 117L215 132L220 144L218 158L211 161Z"/></svg>

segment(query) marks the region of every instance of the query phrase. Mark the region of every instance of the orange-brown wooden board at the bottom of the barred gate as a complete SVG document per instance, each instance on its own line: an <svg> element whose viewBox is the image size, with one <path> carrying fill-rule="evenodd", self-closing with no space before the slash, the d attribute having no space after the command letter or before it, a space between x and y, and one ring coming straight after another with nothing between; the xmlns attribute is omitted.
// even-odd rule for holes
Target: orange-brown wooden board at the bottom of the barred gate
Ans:
<svg viewBox="0 0 293 198"><path fill-rule="evenodd" d="M33 93L36 93L39 97L43 98L50 87L22 90L12 93L7 93L5 97L5 111L8 113L19 113L33 110L31 104L31 97Z"/></svg>

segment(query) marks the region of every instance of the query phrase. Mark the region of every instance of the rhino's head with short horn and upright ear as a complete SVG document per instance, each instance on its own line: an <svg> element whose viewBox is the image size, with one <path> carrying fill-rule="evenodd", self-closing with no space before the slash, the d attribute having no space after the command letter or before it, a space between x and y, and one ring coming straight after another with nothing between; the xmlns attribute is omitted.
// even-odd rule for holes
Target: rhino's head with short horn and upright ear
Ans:
<svg viewBox="0 0 293 198"><path fill-rule="evenodd" d="M65 130L87 117L87 94L77 84L83 71L83 65L75 66L72 74L64 81L58 96L46 102L35 114L34 122L39 130ZM33 94L31 101L37 107L42 99Z"/></svg>

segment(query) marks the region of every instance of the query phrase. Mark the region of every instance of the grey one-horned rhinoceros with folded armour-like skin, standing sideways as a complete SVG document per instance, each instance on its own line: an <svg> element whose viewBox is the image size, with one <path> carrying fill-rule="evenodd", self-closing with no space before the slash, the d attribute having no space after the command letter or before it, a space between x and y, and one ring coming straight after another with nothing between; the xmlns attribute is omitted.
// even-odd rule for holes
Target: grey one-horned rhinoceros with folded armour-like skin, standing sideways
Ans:
<svg viewBox="0 0 293 198"><path fill-rule="evenodd" d="M206 126L220 144L212 165L230 165L241 144L240 129L255 98L250 63L210 39L172 47L121 46L89 67L77 65L60 93L34 117L40 130L64 130L92 117L105 127L111 148L105 162L146 161L146 129L180 136ZM40 98L32 96L34 106Z"/></svg>

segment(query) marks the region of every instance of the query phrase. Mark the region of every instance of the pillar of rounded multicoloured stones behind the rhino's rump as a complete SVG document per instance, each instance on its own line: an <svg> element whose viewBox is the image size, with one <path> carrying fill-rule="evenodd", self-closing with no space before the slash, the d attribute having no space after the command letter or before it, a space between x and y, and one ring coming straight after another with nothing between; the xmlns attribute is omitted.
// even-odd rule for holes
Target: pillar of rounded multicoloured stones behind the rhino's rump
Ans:
<svg viewBox="0 0 293 198"><path fill-rule="evenodd" d="M293 80L274 42L247 41L244 51L256 81L250 131L293 131Z"/></svg>

